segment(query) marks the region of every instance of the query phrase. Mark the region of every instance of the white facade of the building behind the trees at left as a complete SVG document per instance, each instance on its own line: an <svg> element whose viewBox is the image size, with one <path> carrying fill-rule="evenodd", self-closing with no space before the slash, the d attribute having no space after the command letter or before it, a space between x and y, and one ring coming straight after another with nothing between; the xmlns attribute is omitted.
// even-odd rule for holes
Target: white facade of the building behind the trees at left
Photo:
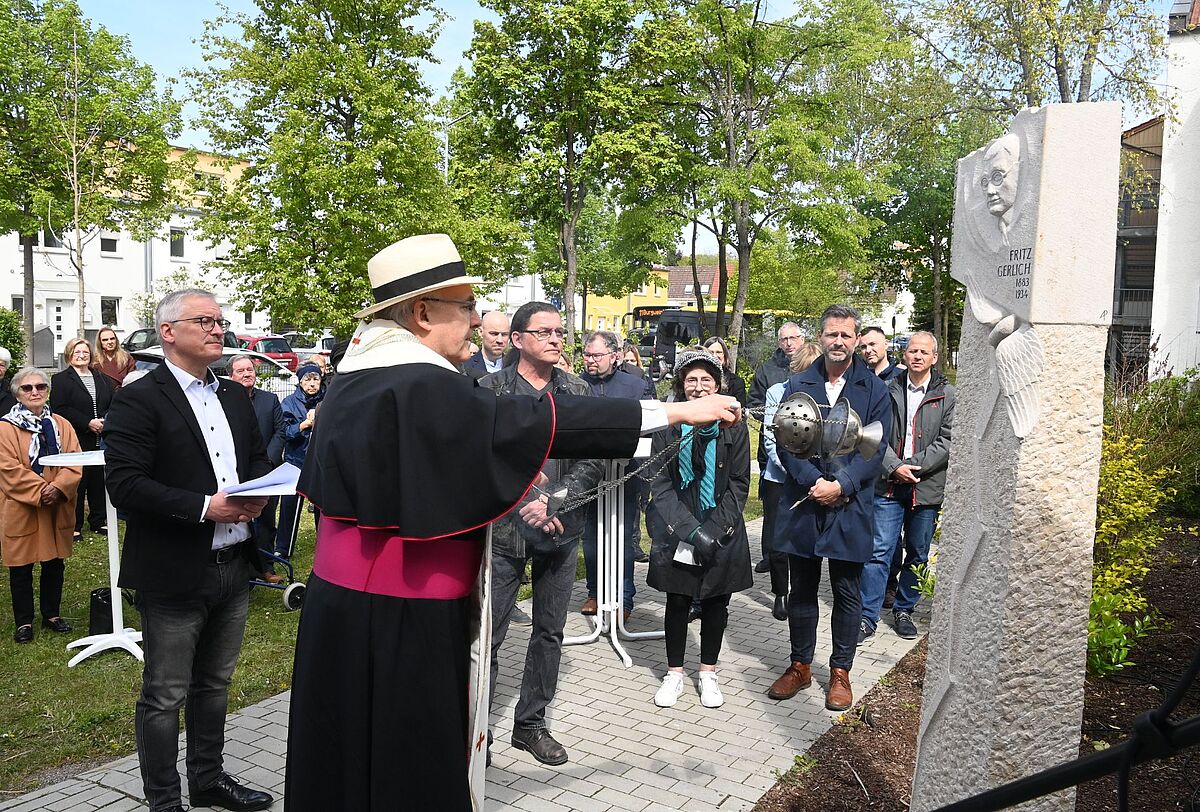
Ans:
<svg viewBox="0 0 1200 812"><path fill-rule="evenodd" d="M266 332L270 323L265 313L235 309L233 290L221 284L210 264L224 253L222 246L204 243L193 231L194 216L178 212L158 229L149 242L136 241L125 231L96 235L84 246L84 329L104 326L104 317L115 319L112 326L124 338L138 327L133 300L152 293L156 281L176 271L186 271L204 282L221 303L224 317L236 332ZM182 234L172 252L172 231ZM103 237L103 241L102 241ZM115 245L109 243L115 240ZM106 251L104 248L115 248ZM0 306L16 308L24 297L24 255L17 234L0 235ZM79 331L79 281L66 248L46 247L44 235L38 235L34 248L34 324L35 330L49 325L54 329L55 353ZM89 337L90 337L89 335Z"/></svg>

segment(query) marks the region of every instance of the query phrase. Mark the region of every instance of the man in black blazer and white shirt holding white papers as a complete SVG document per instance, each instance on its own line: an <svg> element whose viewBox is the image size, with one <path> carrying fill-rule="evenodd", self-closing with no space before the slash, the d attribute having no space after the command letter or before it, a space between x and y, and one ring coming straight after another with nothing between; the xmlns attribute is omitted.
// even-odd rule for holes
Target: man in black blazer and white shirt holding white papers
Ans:
<svg viewBox="0 0 1200 812"><path fill-rule="evenodd" d="M155 321L166 362L122 387L104 425L109 492L128 513L119 583L138 590L142 613L142 781L152 812L182 812L175 762L186 704L191 805L265 810L274 799L226 774L222 750L258 560L250 521L266 500L226 488L271 464L245 389L208 368L229 326L212 294L173 293Z"/></svg>

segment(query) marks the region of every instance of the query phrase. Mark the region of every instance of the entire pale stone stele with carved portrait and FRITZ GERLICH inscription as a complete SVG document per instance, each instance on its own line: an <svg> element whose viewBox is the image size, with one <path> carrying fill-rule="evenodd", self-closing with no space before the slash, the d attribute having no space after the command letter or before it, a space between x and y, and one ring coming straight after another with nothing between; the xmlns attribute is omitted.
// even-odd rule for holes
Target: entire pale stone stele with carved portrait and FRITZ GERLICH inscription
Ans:
<svg viewBox="0 0 1200 812"><path fill-rule="evenodd" d="M967 306L917 811L1079 751L1120 144L1117 103L1055 104L959 161Z"/></svg>

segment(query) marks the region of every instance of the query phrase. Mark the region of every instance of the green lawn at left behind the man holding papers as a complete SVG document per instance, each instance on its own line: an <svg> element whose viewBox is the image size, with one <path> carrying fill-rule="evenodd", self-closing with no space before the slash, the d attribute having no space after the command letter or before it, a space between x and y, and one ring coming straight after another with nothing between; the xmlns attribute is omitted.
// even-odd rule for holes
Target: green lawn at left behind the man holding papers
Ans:
<svg viewBox="0 0 1200 812"><path fill-rule="evenodd" d="M296 577L312 569L312 515L305 512L296 545ZM37 576L34 577L35 603ZM47 770L66 764L108 762L136 750L133 703L142 688L142 663L125 651L104 651L74 668L78 650L66 644L86 636L91 590L108 585L108 552L102 536L85 534L67 559L62 615L68 634L36 627L32 643L12 642L5 614L0 637L0 804L34 789ZM8 596L8 569L0 567L0 594ZM289 687L300 615L286 612L283 593L254 588L241 658L233 675L229 710L240 710ZM137 610L125 605L125 625L138 628Z"/></svg>

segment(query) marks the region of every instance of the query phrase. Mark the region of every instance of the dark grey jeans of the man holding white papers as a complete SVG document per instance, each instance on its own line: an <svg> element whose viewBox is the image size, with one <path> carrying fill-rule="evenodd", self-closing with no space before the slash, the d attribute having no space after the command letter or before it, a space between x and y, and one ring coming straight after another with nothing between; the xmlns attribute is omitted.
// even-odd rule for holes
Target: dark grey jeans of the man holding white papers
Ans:
<svg viewBox="0 0 1200 812"><path fill-rule="evenodd" d="M221 776L229 678L246 631L251 575L239 555L209 564L186 595L138 591L145 668L134 732L142 783L155 812L180 802L180 708L187 716L188 786L208 788Z"/></svg>

